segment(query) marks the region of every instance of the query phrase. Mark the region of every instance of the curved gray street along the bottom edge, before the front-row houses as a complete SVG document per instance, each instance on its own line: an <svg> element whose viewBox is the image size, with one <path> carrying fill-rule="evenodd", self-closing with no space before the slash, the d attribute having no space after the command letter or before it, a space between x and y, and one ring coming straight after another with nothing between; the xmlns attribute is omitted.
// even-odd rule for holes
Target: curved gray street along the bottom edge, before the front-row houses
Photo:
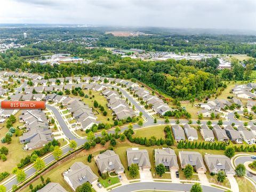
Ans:
<svg viewBox="0 0 256 192"><path fill-rule="evenodd" d="M128 185L123 185L112 189L111 192L130 192L137 190L166 190L166 191L190 191L193 184L185 183L170 183L170 182L134 182ZM206 192L223 192L219 188L202 186L203 191Z"/></svg>

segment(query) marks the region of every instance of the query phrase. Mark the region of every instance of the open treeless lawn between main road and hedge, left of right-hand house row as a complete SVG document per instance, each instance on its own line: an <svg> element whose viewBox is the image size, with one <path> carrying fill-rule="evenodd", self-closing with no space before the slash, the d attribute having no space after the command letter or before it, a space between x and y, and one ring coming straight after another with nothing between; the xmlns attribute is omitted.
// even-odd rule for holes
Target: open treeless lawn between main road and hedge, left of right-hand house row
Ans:
<svg viewBox="0 0 256 192"><path fill-rule="evenodd" d="M140 129L138 131L135 131L133 137L142 137L142 138L150 138L151 136L155 136L157 139L165 137L164 134L164 127L166 125L161 126L152 126L145 129Z"/></svg>

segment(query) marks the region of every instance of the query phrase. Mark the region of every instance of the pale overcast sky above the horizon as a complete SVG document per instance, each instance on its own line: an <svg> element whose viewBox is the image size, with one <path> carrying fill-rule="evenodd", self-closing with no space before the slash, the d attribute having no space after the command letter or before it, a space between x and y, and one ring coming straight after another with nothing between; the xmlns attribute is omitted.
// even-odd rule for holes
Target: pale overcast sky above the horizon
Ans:
<svg viewBox="0 0 256 192"><path fill-rule="evenodd" d="M0 0L0 23L256 30L256 0Z"/></svg>

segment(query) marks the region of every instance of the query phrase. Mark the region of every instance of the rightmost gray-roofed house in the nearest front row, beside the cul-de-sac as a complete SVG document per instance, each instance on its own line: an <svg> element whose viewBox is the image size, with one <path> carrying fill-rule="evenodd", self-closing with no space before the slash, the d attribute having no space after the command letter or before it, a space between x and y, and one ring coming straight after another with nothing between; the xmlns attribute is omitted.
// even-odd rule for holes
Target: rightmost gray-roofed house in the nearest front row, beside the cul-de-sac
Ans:
<svg viewBox="0 0 256 192"><path fill-rule="evenodd" d="M211 173L217 174L219 171L225 171L226 174L235 174L230 159L225 155L204 155L204 161Z"/></svg>

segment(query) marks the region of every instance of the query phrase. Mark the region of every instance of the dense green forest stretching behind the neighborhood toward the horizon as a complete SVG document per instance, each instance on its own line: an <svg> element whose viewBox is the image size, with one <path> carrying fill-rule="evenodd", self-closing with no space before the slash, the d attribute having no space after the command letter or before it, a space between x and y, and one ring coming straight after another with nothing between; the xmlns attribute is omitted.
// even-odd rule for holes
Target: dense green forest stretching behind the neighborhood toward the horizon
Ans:
<svg viewBox="0 0 256 192"><path fill-rule="evenodd" d="M18 39L23 43L29 42L25 47L9 49L0 53L0 67L2 70L18 70L30 73L46 74L47 77L66 77L72 75L111 76L116 78L136 78L138 81L180 100L202 99L209 94L217 92L222 86L221 81L248 80L255 70L255 60L250 59L243 63L232 61L232 69L225 69L219 75L217 58L196 60L167 61L142 61L139 59L121 58L100 47L88 49L79 44L78 39L83 36L97 36L98 46L122 46L124 49L138 47L147 51L177 51L177 52L209 52L209 53L246 53L252 56L255 45L242 42L256 42L255 36L245 35L168 35L161 34L115 37L105 35L101 30L75 30L69 29L44 29L45 33L39 33L39 29L29 29L33 38ZM33 32L34 31L34 32ZM19 31L21 32L21 30ZM150 31L148 31L150 32ZM60 38L76 38L76 41L55 41L58 34ZM4 36L8 33L4 33ZM19 33L13 34L13 36ZM39 43L31 43L37 37L49 38ZM26 57L37 57L41 54L65 52L73 56L93 60L90 64L65 63L60 65L40 65L28 63Z"/></svg>

